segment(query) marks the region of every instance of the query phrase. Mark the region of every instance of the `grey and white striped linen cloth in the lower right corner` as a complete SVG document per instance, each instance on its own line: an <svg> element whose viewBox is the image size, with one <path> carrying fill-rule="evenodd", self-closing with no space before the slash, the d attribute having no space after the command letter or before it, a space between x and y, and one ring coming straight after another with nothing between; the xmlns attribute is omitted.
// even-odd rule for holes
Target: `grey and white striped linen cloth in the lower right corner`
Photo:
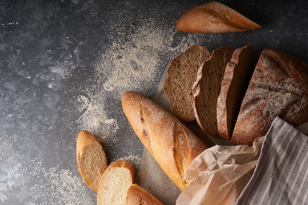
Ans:
<svg viewBox="0 0 308 205"><path fill-rule="evenodd" d="M308 136L276 117L236 205L308 205Z"/></svg>

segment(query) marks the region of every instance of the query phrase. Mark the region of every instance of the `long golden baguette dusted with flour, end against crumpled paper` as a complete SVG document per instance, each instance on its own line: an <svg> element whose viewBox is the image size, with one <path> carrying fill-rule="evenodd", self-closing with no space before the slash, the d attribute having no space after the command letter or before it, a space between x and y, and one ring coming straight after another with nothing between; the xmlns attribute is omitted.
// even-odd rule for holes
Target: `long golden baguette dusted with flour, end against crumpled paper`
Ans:
<svg viewBox="0 0 308 205"><path fill-rule="evenodd" d="M207 146L179 119L144 95L126 91L122 96L125 116L161 169L181 189L192 160Z"/></svg>

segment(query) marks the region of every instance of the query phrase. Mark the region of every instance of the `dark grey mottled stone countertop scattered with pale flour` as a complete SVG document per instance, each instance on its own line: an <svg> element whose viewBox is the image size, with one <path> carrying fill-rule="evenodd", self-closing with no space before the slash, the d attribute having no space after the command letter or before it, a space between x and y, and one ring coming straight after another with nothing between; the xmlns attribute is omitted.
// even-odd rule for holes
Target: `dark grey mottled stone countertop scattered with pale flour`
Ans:
<svg viewBox="0 0 308 205"><path fill-rule="evenodd" d="M82 129L108 162L140 171L143 146L121 108L126 90L154 99L167 64L188 46L251 44L308 63L308 2L222 2L262 29L183 33L174 25L203 0L0 2L0 204L96 204L76 163Z"/></svg>

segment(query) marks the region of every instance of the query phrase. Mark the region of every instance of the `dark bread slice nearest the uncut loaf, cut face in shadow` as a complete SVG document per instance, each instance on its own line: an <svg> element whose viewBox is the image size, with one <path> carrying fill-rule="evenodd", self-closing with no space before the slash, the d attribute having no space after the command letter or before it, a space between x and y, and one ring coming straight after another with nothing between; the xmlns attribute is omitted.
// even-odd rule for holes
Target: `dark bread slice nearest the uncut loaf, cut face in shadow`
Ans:
<svg viewBox="0 0 308 205"><path fill-rule="evenodd" d="M233 52L227 63L217 98L217 128L220 137L231 139L232 131L248 86L253 48L247 45Z"/></svg>

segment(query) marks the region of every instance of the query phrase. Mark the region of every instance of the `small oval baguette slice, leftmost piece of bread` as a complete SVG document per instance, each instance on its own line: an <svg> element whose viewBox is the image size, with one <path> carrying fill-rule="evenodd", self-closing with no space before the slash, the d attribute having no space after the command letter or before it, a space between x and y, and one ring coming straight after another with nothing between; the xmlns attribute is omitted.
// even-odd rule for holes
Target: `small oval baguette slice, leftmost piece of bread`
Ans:
<svg viewBox="0 0 308 205"><path fill-rule="evenodd" d="M87 130L82 130L76 143L77 165L84 182L97 191L100 177L107 168L107 159L100 142Z"/></svg>

